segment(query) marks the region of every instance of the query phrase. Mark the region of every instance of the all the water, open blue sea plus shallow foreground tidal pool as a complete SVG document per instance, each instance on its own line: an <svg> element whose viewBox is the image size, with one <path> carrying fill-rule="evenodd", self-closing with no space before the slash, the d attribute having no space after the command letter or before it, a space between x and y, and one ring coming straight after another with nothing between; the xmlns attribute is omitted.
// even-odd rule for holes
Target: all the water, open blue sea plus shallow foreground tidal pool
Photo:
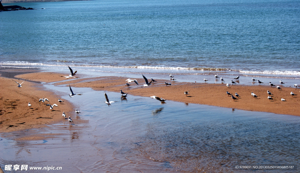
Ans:
<svg viewBox="0 0 300 173"><path fill-rule="evenodd" d="M258 85L300 84L299 0L23 2L0 12L0 68ZM1 69L0 69L1 70ZM300 117L45 85L82 114L48 128L1 134L0 166L62 172L299 172ZM59 108L59 107L58 107ZM85 123L78 123L84 120ZM78 129L79 128L79 129ZM11 136L55 133L18 142ZM10 137L9 137L10 136ZM295 166L235 169L235 166ZM253 168L253 167L252 167ZM10 172L10 171L6 171ZM6 173L5 172L5 173ZM18 171L15 171L18 172ZM20 171L21 172L21 171ZM39 171L32 171L39 172ZM49 172L57 172L49 170Z"/></svg>

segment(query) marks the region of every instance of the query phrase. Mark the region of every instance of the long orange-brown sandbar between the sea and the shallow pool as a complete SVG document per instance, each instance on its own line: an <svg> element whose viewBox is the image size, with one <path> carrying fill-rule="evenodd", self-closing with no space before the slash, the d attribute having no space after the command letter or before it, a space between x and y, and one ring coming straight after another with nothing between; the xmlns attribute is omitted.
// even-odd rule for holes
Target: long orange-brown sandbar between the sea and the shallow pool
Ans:
<svg viewBox="0 0 300 173"><path fill-rule="evenodd" d="M41 81L43 79L43 81L45 81L45 76L49 76L49 74L42 74L43 75L41 76L37 74L35 74L35 76L26 74L26 78L32 79L31 77L34 77L34 80ZM18 77L25 79L24 76L25 75L19 75ZM56 85L72 84L72 87L88 87L94 90L114 92L120 92L122 89L123 92L136 96L150 97L155 95L166 100L184 103L205 104L248 111L300 116L300 90L296 88L282 87L281 90L278 90L276 87L258 84L255 86L230 85L229 87L226 87L226 84L173 82L165 80L158 80L154 85L143 87L143 84L145 83L144 79L137 79L140 85L131 82L130 88L127 88L125 86L126 79L128 78L114 76L84 78L57 82ZM60 79L58 78L57 80ZM54 78L52 81L54 81ZM172 83L172 85L166 86L164 82ZM267 98L267 90L273 94L271 95L273 100ZM183 93L184 91L189 91L188 97L185 96ZM238 97L238 100L233 101L232 98L226 94L226 91L231 94L238 93L241 97ZM290 95L291 91L297 95L292 97ZM258 97L252 97L251 92L255 93ZM284 98L286 101L281 101L281 98Z"/></svg>

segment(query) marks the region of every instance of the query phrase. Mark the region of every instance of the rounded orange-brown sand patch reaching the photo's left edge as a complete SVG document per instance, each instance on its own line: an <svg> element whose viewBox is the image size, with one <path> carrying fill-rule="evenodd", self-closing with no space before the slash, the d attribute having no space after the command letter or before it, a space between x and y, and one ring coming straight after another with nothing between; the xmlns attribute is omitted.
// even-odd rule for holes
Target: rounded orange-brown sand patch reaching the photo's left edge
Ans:
<svg viewBox="0 0 300 173"><path fill-rule="evenodd" d="M2 74L2 76L4 75ZM14 80L19 83L24 81ZM60 95L45 91L42 84L27 80L21 88L18 88L16 82L5 77L0 77L0 83L0 133L38 128L43 127L44 124L67 121L62 117L62 112L70 116L75 114L71 103L65 101L60 104L58 102ZM50 102L39 102L39 99L43 97L49 99ZM32 105L31 108L28 106L29 102ZM50 110L50 106L46 106L48 103L57 104L58 107Z"/></svg>

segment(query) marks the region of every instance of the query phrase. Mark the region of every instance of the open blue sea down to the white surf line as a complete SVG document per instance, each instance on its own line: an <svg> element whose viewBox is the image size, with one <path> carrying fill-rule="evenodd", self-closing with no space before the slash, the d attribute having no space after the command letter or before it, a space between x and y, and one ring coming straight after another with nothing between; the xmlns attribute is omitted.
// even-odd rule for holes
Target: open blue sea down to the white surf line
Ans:
<svg viewBox="0 0 300 173"><path fill-rule="evenodd" d="M0 13L2 66L180 67L300 74L298 0L17 5L37 10Z"/></svg>

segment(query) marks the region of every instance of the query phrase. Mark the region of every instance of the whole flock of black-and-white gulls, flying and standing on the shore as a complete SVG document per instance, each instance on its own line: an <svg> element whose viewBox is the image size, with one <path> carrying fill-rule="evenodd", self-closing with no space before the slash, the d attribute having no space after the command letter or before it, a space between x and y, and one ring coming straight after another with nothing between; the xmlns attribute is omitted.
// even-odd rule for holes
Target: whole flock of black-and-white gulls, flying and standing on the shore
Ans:
<svg viewBox="0 0 300 173"><path fill-rule="evenodd" d="M69 66L68 66L69 67ZM65 77L65 78L70 78L70 77L73 77L73 78L77 78L77 77L74 77L74 75L76 75L76 73L77 73L77 71L75 71L74 73L73 73L73 70L69 67L69 69L70 69L70 72L71 72L71 74L69 75L69 76L61 76L61 77ZM157 82L157 81L155 81L154 79L152 79L151 78L151 81L150 82L148 82L148 79L144 76L144 75L142 75L143 76L143 78L145 79L145 84L143 84L143 86L145 86L145 87L147 87L147 86L149 86L149 85L151 85L151 84L154 84L154 82ZM170 80L173 80L174 82L175 82L175 78L174 78L174 76L172 76L171 74L169 75L170 76ZM223 82L225 82L224 81L224 79L223 79L223 77L219 77L219 76L217 76L217 74L216 75L214 75L214 77L217 79L217 78L220 78L221 79L221 82L223 83ZM238 79L240 78L240 76L237 76L237 77L235 77L235 78L233 78L233 79L235 79L236 81L238 81ZM26 79L27 80L27 79ZM26 81L25 80L25 81ZM14 81L14 80L13 80ZM25 81L23 81L21 84L19 84L18 82L16 82L16 81L14 81L14 82L16 82L17 84L18 84L18 88L21 88L22 87L22 84L25 82ZM204 82L206 83L208 80L207 79L205 79L204 78ZM261 81L259 81L259 80L256 80L256 79L254 79L254 78L252 78L252 82L255 82L255 81L257 81L258 83L259 83L259 85L260 84L262 84L263 82L261 82ZM134 82L134 83L136 83L137 85L139 85L139 83L137 82L137 80L136 79L127 79L127 80L125 80L125 82L126 82L126 86L127 87L129 87L131 84L129 84L129 83L131 83L131 82ZM167 83L167 82L164 82L165 83L165 85L166 86L170 86L170 85L172 85L171 83ZM231 83L232 83L232 85L233 84L236 84L233 80L231 80ZM279 82L281 85L282 84L284 84L281 80L280 80L280 82ZM273 86L275 86L273 83L271 83L271 82L269 82L269 85L271 86L271 87L273 87ZM227 83L226 84L226 86L227 87L229 87L229 84ZM294 85L296 88L298 88L298 85L297 84L295 84ZM71 93L69 94L69 96L70 97L74 97L75 95L82 95L82 94L75 94L73 91L72 91L72 88L71 88L71 86L69 85L69 88L70 88L70 91L71 91ZM280 90L281 88L280 88L280 86L277 86L276 87L278 90ZM187 96L189 93L188 93L189 91L184 91L184 94ZM122 94L122 96L121 97L127 97L127 94L128 93L125 93L125 92L123 92L122 90L120 90L120 93ZM124 95L125 94L125 95ZM235 97L233 96L233 94L230 94L228 91L226 91L226 94L228 95L228 96L231 96L231 98L235 101L235 100L238 100L238 98L240 97L237 93L235 93ZM268 96L268 99L271 101L271 100L273 100L273 98L271 97L271 95L273 95L273 94L271 94L271 92L268 90L267 91L267 94L269 95ZM292 97L293 96L295 96L296 94L294 94L293 92L291 92L290 93L291 95L292 95ZM252 97L255 97L255 98L257 98L257 95L256 94L254 94L253 92L251 92L251 95L252 95ZM104 93L104 96L105 96L105 99L106 99L106 101L104 102L104 103L106 103L108 106L112 106L111 105L111 103L115 103L115 102L119 102L119 101L109 101L109 99L108 99L108 97L107 97L107 94L106 93ZM163 98L159 98L159 97L156 97L156 96L151 96L151 98L152 99L156 99L156 100L159 100L159 101L161 101L161 102L165 102L166 100L165 99L163 99ZM47 99L47 98L42 98L42 99L40 99L39 100L39 102L45 102L45 101L48 101L49 102L49 99ZM281 98L281 101L285 101L285 99L283 99L283 98ZM58 99L58 102L61 104L61 103L63 103L64 101L62 101L61 99ZM31 108L31 104L30 104L30 102L28 103L28 106ZM50 106L50 110L51 109L53 109L54 108L54 106L58 106L57 104L53 104L53 105L51 105L51 104L46 104L46 106ZM79 112L77 109L75 110L75 113L78 115L79 113L81 113L81 112ZM62 113L62 116L63 116L63 118L65 118L66 117L66 114L63 112ZM70 116L69 116L69 118L68 118L68 121L70 122L70 125L71 125L71 123L73 122L72 121L72 119L70 118Z"/></svg>

